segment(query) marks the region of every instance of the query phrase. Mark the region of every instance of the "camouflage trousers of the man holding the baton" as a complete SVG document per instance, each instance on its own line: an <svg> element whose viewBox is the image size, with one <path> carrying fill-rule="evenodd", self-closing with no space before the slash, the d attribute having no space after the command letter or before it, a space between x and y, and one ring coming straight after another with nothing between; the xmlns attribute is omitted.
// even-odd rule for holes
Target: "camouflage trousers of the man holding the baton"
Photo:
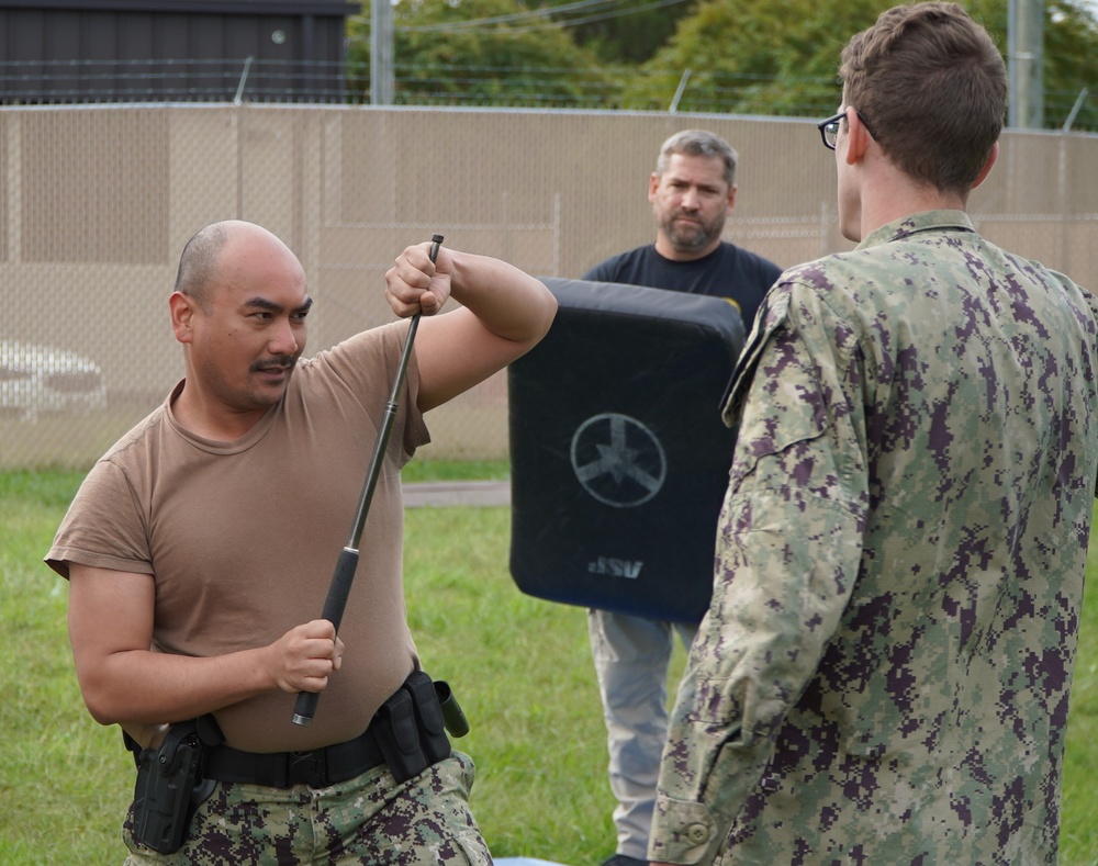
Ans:
<svg viewBox="0 0 1098 866"><path fill-rule="evenodd" d="M484 866L488 846L469 811L472 760L460 752L397 784L384 767L328 788L217 783L183 846L157 854L122 836L127 866Z"/></svg>

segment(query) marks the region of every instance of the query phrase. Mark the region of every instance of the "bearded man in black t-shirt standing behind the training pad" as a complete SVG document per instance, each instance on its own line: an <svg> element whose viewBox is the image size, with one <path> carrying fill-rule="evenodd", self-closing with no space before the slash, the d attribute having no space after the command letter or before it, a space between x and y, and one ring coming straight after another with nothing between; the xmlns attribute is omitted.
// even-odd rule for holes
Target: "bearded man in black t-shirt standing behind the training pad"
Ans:
<svg viewBox="0 0 1098 866"><path fill-rule="evenodd" d="M725 297L739 308L750 331L763 295L782 271L720 239L736 201L736 161L731 146L710 132L686 130L671 136L649 179L656 243L606 259L583 279ZM714 515L714 532L716 520ZM606 720L610 788L618 801L617 853L604 866L647 864L668 728L673 632L688 648L697 625L597 609L589 611L587 621Z"/></svg>

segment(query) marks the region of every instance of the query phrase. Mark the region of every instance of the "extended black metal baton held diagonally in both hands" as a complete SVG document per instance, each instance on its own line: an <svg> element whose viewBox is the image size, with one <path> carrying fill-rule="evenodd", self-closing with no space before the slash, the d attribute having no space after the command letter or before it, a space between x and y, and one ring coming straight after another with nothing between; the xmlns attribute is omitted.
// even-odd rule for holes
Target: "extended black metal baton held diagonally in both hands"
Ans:
<svg viewBox="0 0 1098 866"><path fill-rule="evenodd" d="M430 238L430 260L434 262L438 256L438 248L442 243L441 235L432 235ZM396 370L396 381L393 382L393 393L385 405L385 417L382 420L381 431L378 434L378 441L373 445L373 456L370 458L370 468L366 473L366 484L362 486L362 496L358 503L358 514L355 516L355 526L351 529L350 540L339 553L336 562L335 573L332 575L332 583L328 586L328 597L324 600L324 612L321 619L328 620L339 631L339 623L343 620L344 609L347 607L347 598L350 595L350 586L355 581L355 571L358 569L358 549L362 541L362 529L366 527L366 518L370 513L370 502L373 499L373 488L378 486L378 475L381 474L381 462L389 445L389 437L393 430L393 419L396 417L396 400L400 396L401 387L404 385L404 376L408 369L408 359L412 357L412 342L415 340L416 329L419 327L419 314L412 316L408 325L408 335L404 340L404 352L401 355L401 364ZM321 698L320 691L301 691L298 695L298 702L293 708L293 723L307 727L316 715L316 702Z"/></svg>

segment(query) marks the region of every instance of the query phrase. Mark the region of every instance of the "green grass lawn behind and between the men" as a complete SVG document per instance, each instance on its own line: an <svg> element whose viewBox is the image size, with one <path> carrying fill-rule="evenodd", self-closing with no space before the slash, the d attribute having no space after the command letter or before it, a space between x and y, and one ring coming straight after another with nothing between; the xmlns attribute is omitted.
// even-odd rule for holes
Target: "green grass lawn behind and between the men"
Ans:
<svg viewBox="0 0 1098 866"><path fill-rule="evenodd" d="M415 465L413 463L412 465ZM411 468L411 466L410 466ZM426 461L410 480L470 476ZM475 477L506 477L478 464ZM67 584L41 558L79 473L0 473L0 863L117 864L133 763L83 708L66 636ZM424 666L450 681L472 730L473 810L496 857L573 866L613 852L605 732L582 609L517 591L506 508L406 516L408 616ZM1098 577L1098 546L1088 577ZM673 675L682 667L676 650ZM1084 607L1064 779L1061 863L1098 864L1098 594Z"/></svg>

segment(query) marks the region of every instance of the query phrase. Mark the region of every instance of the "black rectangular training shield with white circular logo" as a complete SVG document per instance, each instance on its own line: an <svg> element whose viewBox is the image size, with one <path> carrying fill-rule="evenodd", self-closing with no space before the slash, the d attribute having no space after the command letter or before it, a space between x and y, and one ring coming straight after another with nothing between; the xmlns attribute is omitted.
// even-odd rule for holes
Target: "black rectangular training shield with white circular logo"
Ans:
<svg viewBox="0 0 1098 866"><path fill-rule="evenodd" d="M511 573L539 598L697 622L709 604L743 348L724 299L545 278L546 338L508 372Z"/></svg>

